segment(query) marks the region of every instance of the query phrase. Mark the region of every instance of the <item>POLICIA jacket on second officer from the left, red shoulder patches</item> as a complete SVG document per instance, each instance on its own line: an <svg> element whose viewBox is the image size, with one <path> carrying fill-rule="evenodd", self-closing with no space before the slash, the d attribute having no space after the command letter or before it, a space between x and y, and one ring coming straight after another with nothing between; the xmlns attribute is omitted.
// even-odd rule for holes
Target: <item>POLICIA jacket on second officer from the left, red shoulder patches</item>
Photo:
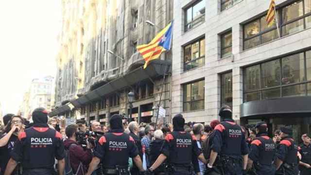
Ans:
<svg viewBox="0 0 311 175"><path fill-rule="evenodd" d="M94 156L103 160L104 168L114 169L128 166L129 157L136 157L138 149L134 139L126 133L107 133L100 138Z"/></svg>

